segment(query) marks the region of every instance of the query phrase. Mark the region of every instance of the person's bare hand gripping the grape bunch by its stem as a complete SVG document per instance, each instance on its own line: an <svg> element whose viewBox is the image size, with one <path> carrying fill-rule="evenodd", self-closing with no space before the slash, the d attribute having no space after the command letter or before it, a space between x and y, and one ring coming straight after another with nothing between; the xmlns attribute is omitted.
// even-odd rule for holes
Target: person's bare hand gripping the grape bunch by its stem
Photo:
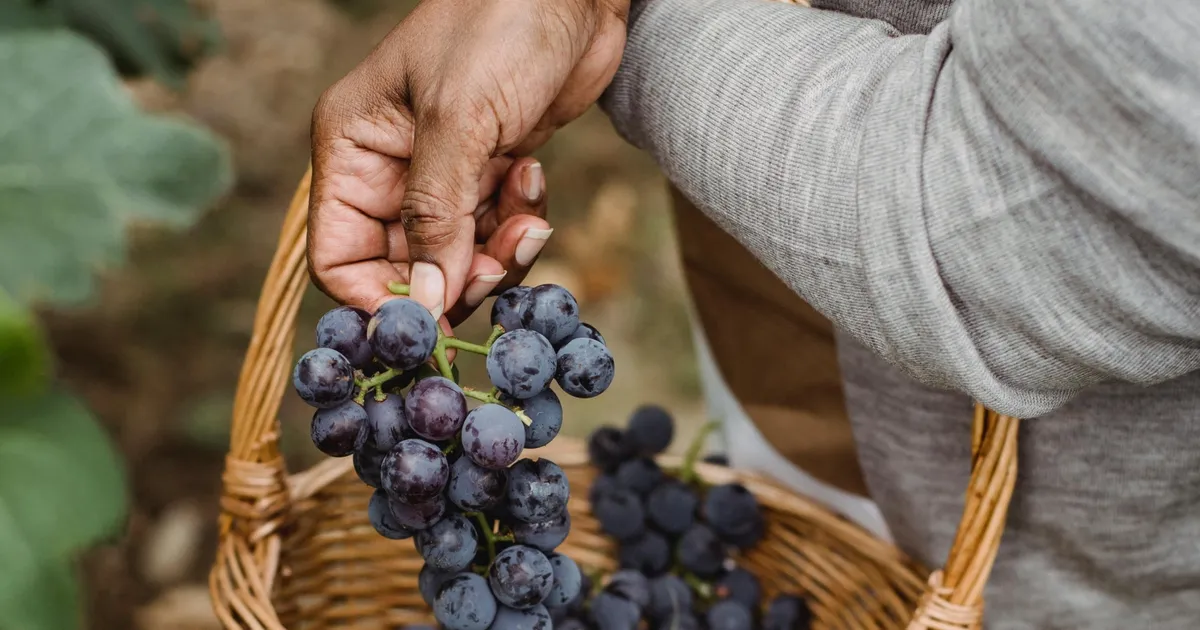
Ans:
<svg viewBox="0 0 1200 630"><path fill-rule="evenodd" d="M374 311L389 281L408 281L434 316L450 305L457 318L520 282L550 226L540 167L508 156L599 98L626 12L626 0L419 5L313 114L317 284Z"/></svg>

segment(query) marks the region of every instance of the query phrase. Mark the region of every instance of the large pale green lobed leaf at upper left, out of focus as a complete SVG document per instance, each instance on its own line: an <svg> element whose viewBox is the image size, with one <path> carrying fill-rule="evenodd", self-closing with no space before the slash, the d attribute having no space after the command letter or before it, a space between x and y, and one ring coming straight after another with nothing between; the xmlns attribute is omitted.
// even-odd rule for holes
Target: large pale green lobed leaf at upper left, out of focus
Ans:
<svg viewBox="0 0 1200 630"><path fill-rule="evenodd" d="M85 300L128 222L187 226L232 184L223 143L140 112L77 35L0 35L0 289L20 302Z"/></svg>

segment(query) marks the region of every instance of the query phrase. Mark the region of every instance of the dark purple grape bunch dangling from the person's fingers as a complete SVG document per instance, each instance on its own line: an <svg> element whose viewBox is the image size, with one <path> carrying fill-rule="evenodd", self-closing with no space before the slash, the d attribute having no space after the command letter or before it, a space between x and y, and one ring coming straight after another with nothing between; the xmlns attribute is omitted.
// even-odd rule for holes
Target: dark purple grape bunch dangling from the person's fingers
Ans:
<svg viewBox="0 0 1200 630"><path fill-rule="evenodd" d="M407 294L407 287L392 286ZM604 338L563 287L497 298L482 344L445 336L420 304L396 298L372 316L341 306L293 384L317 408L312 440L376 488L367 515L389 539L413 539L419 588L448 630L550 630L547 608L578 598L580 568L554 553L570 530L566 475L521 458L563 425L550 388L602 394L613 378ZM490 391L457 383L448 350L486 356ZM407 392L404 391L407 389Z"/></svg>

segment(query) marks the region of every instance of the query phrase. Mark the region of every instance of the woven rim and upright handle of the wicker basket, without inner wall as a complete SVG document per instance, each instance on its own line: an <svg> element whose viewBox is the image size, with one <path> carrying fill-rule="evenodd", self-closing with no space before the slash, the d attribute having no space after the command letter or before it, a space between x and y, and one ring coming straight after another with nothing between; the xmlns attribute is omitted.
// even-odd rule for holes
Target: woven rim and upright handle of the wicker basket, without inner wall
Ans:
<svg viewBox="0 0 1200 630"><path fill-rule="evenodd" d="M222 476L220 544L210 594L221 623L229 629L284 630L272 608L282 551L281 529L295 506L346 474L347 460L329 460L288 476L280 450L276 416L290 376L292 342L301 295L308 284L306 268L307 173L296 186L281 229L278 246L263 284L254 329L238 383L229 455ZM823 530L870 550L901 566L898 575L914 589L924 588L908 630L973 630L983 623L983 589L995 563L1016 479L1016 419L976 406L972 472L964 514L946 568L920 584L924 570L896 547L883 542L815 499L803 497L760 473L698 463L706 479L739 481L764 505L803 514ZM578 457L583 449L559 438L529 456ZM559 440L556 440L559 442ZM565 446L565 448L564 448ZM557 460L556 460L557 461ZM665 462L673 461L666 457ZM560 463L581 463L575 460Z"/></svg>

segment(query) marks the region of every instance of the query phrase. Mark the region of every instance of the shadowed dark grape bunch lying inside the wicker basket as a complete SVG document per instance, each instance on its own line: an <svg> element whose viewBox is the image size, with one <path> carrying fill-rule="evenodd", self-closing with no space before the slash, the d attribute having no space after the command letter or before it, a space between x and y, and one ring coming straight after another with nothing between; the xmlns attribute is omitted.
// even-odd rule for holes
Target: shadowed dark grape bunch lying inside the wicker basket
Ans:
<svg viewBox="0 0 1200 630"><path fill-rule="evenodd" d="M805 630L804 599L779 595L760 608L762 588L736 553L756 545L764 523L758 502L740 484L704 485L695 474L703 439L678 470L654 457L667 449L674 422L662 408L634 412L629 426L600 427L588 439L599 470L590 493L600 528L619 544L620 570L571 606L551 610L570 630L635 630L644 620L664 630Z"/></svg>

